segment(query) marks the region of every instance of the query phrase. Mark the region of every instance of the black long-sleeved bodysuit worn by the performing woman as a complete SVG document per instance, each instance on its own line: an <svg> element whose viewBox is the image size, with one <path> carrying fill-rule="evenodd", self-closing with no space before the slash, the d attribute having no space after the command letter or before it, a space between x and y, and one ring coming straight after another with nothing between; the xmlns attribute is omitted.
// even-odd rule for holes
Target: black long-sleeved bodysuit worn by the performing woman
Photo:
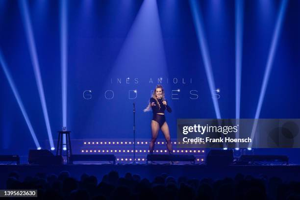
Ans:
<svg viewBox="0 0 300 200"><path fill-rule="evenodd" d="M165 115L159 115L157 113L165 113L165 110L167 109L168 112L172 112L172 109L171 107L167 104L167 105L164 105L162 103L162 100L161 99L157 99L159 104L160 104L160 107L157 103L157 101L154 99L154 98L150 98L150 104L152 104L152 102L155 104L152 107L152 112L153 112L153 119L155 122L157 122L159 124L159 127L161 128L161 126L166 122L166 117Z"/></svg>

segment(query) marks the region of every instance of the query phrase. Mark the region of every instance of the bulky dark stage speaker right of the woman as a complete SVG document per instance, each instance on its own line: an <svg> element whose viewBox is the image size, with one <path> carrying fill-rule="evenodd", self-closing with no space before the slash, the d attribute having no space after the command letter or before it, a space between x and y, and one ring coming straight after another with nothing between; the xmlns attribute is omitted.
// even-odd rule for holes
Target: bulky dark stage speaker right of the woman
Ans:
<svg viewBox="0 0 300 200"><path fill-rule="evenodd" d="M206 157L207 165L228 166L233 162L233 150L210 150Z"/></svg>

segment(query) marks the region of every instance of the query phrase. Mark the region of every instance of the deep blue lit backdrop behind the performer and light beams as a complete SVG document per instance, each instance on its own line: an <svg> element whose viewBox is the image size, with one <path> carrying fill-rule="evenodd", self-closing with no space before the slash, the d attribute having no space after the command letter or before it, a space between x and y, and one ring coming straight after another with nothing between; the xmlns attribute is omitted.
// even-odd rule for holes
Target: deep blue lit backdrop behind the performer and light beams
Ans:
<svg viewBox="0 0 300 200"><path fill-rule="evenodd" d="M280 2L245 2L240 118L254 118ZM62 126L60 3L27 3L55 139ZM200 1L222 118L235 118L234 6L234 0ZM288 2L260 118L299 118L299 8L299 1ZM132 138L133 101L137 138L150 138L151 112L142 110L160 77L174 110L166 114L172 138L178 118L216 118L189 1L158 0L156 6L149 0L72 0L68 9L67 127L73 139ZM0 48L37 138L44 144L47 129L16 0L0 0ZM187 83L170 83L173 78ZM171 90L177 89L179 100L172 100ZM85 90L92 90L91 100L83 98ZM105 99L106 90L114 91L112 100ZM135 100L128 99L128 90L137 90ZM198 90L199 99L191 100L190 90ZM35 145L2 70L0 97L0 150L27 153Z"/></svg>

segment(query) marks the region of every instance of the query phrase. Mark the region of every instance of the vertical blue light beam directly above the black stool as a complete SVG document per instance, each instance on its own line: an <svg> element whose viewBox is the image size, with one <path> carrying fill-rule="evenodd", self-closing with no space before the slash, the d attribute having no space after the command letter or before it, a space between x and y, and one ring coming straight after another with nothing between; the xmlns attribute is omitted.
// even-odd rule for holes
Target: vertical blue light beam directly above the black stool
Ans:
<svg viewBox="0 0 300 200"><path fill-rule="evenodd" d="M68 82L68 7L67 1L60 1L60 58L61 58L61 93L63 126L67 127L67 82ZM66 137L63 137L66 144ZM63 150L67 150L64 145Z"/></svg>

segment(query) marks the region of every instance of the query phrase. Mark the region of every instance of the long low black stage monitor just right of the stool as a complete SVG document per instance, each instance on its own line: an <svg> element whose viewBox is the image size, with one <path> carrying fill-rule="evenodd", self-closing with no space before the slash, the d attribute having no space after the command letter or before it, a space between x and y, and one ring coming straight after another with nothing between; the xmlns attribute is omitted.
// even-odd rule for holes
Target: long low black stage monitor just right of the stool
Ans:
<svg viewBox="0 0 300 200"><path fill-rule="evenodd" d="M113 161L114 165L116 164L116 156L113 154L107 155L81 155L75 154L70 156L70 161Z"/></svg>

